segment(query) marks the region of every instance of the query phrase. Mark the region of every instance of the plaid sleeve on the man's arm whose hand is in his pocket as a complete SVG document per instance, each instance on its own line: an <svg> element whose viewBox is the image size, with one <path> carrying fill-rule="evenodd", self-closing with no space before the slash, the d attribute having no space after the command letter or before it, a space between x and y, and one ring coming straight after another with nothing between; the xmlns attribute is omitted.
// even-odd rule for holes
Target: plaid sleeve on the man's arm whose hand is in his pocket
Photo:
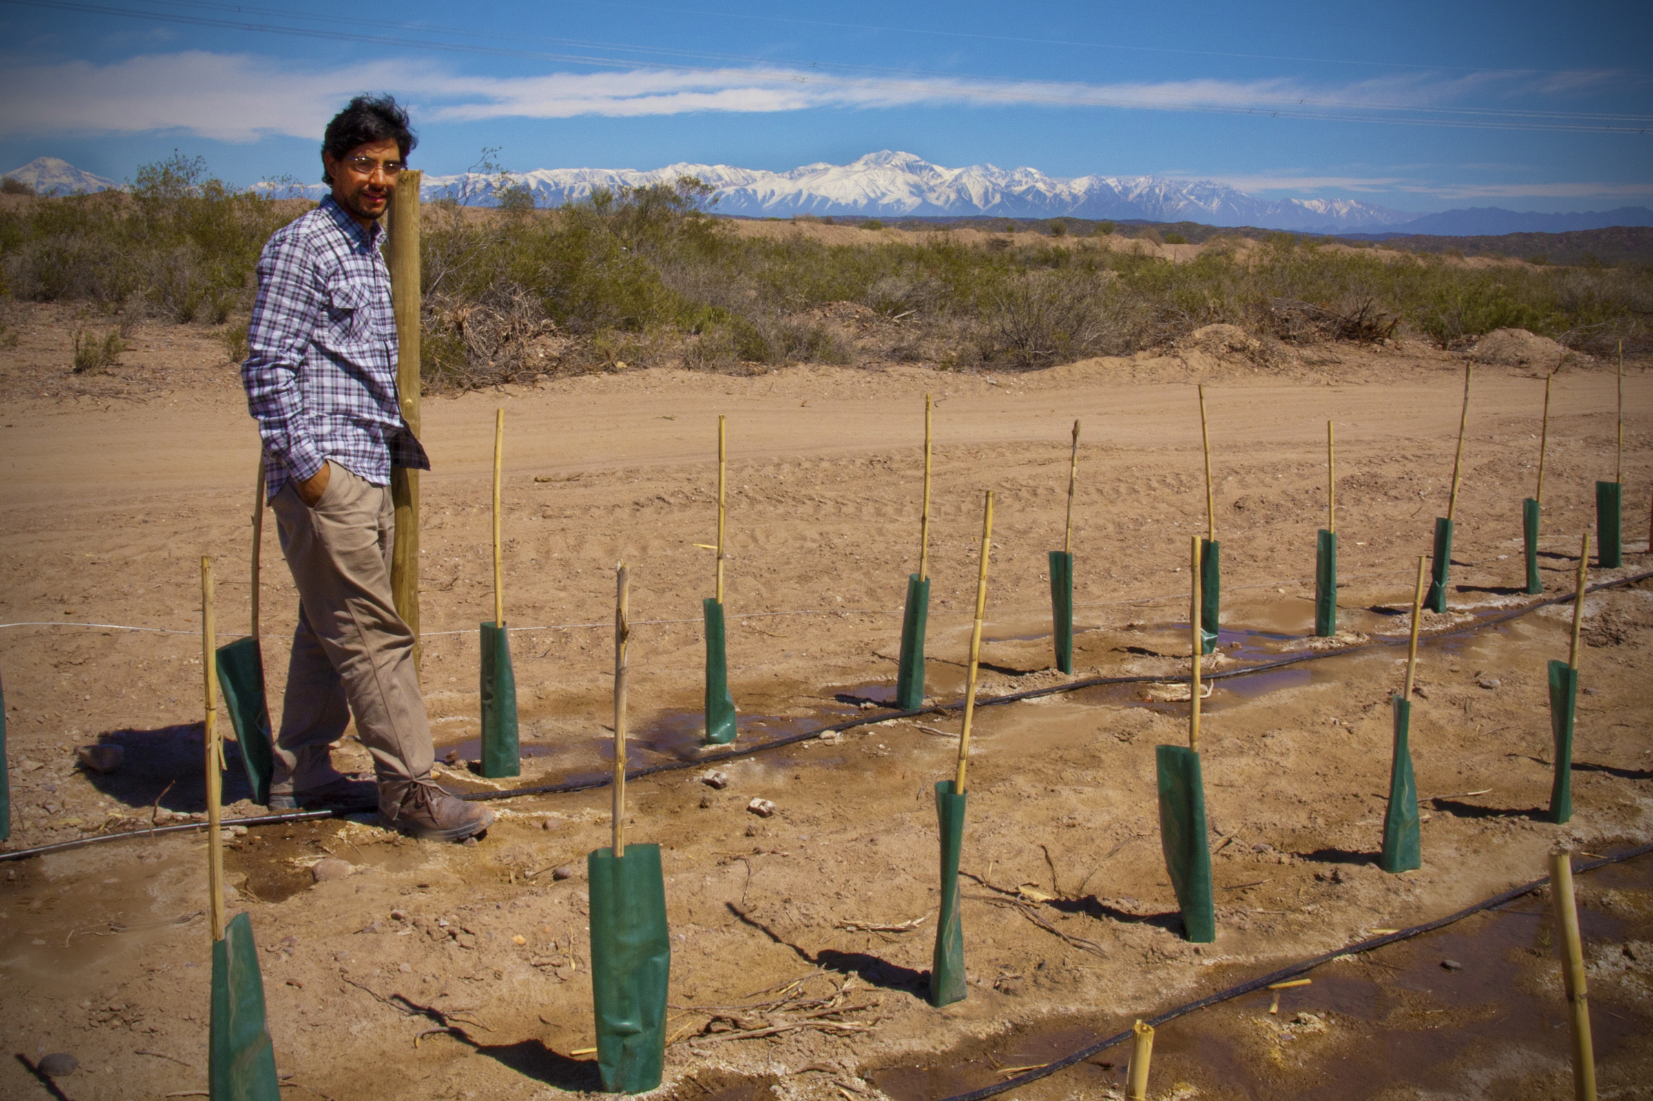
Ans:
<svg viewBox="0 0 1653 1101"><path fill-rule="evenodd" d="M299 384L321 314L322 288L309 245L302 235L276 233L258 260L258 299L246 329L241 382L264 451L301 481L327 458L311 436Z"/></svg>

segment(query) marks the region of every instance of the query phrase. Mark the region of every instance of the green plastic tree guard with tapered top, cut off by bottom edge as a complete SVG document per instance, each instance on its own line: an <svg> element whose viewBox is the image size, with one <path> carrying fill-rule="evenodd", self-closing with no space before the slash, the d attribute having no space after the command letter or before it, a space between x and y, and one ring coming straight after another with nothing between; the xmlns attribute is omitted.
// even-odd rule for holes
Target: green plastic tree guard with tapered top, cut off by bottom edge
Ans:
<svg viewBox="0 0 1653 1101"><path fill-rule="evenodd" d="M276 1050L264 1025L264 979L246 913L212 946L212 1025L207 1083L212 1101L279 1101Z"/></svg>

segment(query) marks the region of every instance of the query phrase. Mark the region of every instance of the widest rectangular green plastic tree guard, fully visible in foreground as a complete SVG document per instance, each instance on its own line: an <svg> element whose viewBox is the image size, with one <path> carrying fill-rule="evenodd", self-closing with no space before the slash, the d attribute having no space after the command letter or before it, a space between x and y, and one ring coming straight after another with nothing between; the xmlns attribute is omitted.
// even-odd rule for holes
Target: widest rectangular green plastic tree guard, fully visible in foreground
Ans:
<svg viewBox="0 0 1653 1101"><path fill-rule="evenodd" d="M608 1093L648 1093L666 1061L671 934L658 845L585 858L592 911L592 1003L597 1070Z"/></svg>

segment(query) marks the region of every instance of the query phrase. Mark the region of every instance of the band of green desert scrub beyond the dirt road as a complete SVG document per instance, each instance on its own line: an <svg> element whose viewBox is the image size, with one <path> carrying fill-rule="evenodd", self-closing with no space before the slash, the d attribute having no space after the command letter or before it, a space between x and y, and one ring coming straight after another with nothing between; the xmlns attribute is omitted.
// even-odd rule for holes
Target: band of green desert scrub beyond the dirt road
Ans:
<svg viewBox="0 0 1653 1101"><path fill-rule="evenodd" d="M1213 322L1291 342L1380 341L1398 326L1453 347L1516 326L1582 350L1618 339L1653 346L1645 266L1470 268L1288 233L1245 250L1213 238L1197 258L1170 263L1150 250L1099 248L1068 220L1048 223L1065 233L1020 241L993 231L1013 228L1008 220L975 223L990 233L977 246L947 233L828 245L792 231L739 235L711 217L711 188L693 179L598 190L555 210L504 192L493 208L446 200L425 210L431 388L622 364L850 364L851 329L828 309L841 303L901 321L899 334L855 322L858 344L884 341L876 355L946 367L1129 354ZM33 198L0 212L3 289L223 322L250 301L264 240L304 208L233 192L198 160L174 157L139 172L131 193ZM1141 236L1154 240L1152 230ZM236 355L238 331L222 339Z"/></svg>

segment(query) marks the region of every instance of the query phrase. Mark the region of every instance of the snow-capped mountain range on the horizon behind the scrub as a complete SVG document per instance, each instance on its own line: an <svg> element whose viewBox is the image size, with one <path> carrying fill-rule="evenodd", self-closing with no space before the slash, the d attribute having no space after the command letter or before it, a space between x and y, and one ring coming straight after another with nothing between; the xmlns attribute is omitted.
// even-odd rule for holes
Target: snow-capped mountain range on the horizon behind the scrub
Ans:
<svg viewBox="0 0 1653 1101"><path fill-rule="evenodd" d="M36 192L71 193L119 187L114 180L81 172L56 157L38 157L5 175ZM1036 169L1000 169L990 164L944 169L906 152L883 150L850 164L807 164L788 172L736 169L722 164L671 164L663 169L536 169L514 174L539 207L559 207L585 198L595 188L671 184L693 175L711 184L714 210L726 215L779 217L812 213L851 218L1003 217L1003 218L1114 218L1142 222L1200 222L1250 225L1309 233L1557 233L1612 225L1653 225L1645 207L1584 213L1517 213L1473 208L1417 215L1352 198L1281 198L1246 195L1212 180L1172 180L1157 175L1050 177ZM426 200L453 197L489 205L498 179L478 172L426 175L420 193ZM322 184L289 188L258 184L276 195L321 198Z"/></svg>

